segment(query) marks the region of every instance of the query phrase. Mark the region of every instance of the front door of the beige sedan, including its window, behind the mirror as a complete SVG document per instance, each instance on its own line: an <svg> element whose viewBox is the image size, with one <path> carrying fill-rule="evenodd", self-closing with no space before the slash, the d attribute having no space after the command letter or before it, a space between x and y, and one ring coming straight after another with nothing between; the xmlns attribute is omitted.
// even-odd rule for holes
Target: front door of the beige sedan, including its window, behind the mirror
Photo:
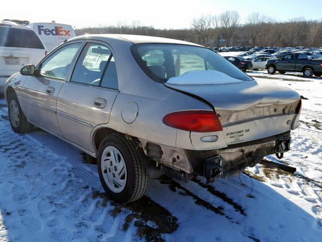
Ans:
<svg viewBox="0 0 322 242"><path fill-rule="evenodd" d="M38 66L38 75L30 76L23 86L23 109L34 124L62 135L57 123L57 96L64 84L70 65L82 42L63 45Z"/></svg>

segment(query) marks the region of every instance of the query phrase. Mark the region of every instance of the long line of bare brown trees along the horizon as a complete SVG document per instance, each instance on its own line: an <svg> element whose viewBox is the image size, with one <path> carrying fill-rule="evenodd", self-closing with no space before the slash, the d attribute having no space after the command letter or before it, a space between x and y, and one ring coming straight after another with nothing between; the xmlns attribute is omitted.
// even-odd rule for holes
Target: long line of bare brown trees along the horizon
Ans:
<svg viewBox="0 0 322 242"><path fill-rule="evenodd" d="M155 29L134 21L117 25L75 29L82 34L139 34L180 39L205 46L306 46L322 47L322 19L302 17L279 22L258 13L250 14L244 24L236 11L193 19L189 29Z"/></svg>

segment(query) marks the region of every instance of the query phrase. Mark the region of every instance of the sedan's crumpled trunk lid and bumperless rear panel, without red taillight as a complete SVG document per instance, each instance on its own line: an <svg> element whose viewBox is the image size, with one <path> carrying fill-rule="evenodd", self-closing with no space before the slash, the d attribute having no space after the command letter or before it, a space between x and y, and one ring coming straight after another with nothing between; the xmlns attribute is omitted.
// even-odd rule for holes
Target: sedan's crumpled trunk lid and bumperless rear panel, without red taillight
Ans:
<svg viewBox="0 0 322 242"><path fill-rule="evenodd" d="M194 173L208 181L217 176L233 176L256 165L266 155L289 150L290 131L298 127L301 109L301 99L295 91L255 80L165 85L208 103L218 118L221 130L189 132L191 147L186 155ZM185 146L187 135L178 130L178 146Z"/></svg>

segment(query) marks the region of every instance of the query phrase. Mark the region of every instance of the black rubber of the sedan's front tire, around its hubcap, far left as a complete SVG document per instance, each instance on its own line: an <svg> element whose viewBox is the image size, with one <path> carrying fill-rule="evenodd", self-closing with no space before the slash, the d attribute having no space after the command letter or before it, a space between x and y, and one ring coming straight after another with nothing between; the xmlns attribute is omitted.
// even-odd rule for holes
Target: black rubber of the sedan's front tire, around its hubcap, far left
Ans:
<svg viewBox="0 0 322 242"><path fill-rule="evenodd" d="M18 105L18 110L19 110L19 123L18 123L18 125L17 125L17 123L14 124L12 114L11 114L11 103L14 104L14 102ZM8 94L8 113L9 113L9 122L10 122L11 128L16 133L18 133L18 134L29 133L34 128L34 126L27 121L25 114L21 110L16 93L9 93Z"/></svg>

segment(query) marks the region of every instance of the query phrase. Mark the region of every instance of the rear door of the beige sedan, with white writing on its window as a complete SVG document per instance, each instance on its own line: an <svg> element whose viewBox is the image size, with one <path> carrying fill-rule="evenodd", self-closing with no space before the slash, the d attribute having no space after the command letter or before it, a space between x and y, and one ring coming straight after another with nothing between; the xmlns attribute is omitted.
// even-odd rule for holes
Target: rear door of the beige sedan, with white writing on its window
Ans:
<svg viewBox="0 0 322 242"><path fill-rule="evenodd" d="M57 119L64 138L94 152L91 132L109 122L118 89L112 48L102 42L86 42L58 94Z"/></svg>

